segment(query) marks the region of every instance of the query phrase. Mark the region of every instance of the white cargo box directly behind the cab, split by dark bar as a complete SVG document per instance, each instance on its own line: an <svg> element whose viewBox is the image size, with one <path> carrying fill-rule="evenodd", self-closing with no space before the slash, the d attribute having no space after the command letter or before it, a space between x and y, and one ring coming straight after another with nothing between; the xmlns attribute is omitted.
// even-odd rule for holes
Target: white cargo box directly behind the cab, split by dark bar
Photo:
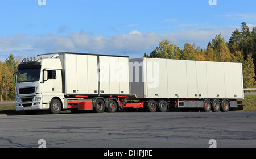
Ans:
<svg viewBox="0 0 256 159"><path fill-rule="evenodd" d="M60 52L65 95L130 95L129 57Z"/></svg>

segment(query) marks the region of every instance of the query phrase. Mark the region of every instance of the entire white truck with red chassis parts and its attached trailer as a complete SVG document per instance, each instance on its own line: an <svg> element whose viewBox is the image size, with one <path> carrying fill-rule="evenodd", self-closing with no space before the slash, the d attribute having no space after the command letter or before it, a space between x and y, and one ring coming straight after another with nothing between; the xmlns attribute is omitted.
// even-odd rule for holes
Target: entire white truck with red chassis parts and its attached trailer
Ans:
<svg viewBox="0 0 256 159"><path fill-rule="evenodd" d="M59 52L24 58L16 110L242 110L242 64Z"/></svg>

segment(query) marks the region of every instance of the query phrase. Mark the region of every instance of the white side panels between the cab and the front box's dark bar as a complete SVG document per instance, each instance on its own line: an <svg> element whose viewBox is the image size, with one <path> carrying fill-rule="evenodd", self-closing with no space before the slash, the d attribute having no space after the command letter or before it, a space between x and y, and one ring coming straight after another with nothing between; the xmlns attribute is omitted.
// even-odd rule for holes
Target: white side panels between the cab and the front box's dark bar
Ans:
<svg viewBox="0 0 256 159"><path fill-rule="evenodd" d="M94 55L65 55L67 94L98 94L98 60Z"/></svg>

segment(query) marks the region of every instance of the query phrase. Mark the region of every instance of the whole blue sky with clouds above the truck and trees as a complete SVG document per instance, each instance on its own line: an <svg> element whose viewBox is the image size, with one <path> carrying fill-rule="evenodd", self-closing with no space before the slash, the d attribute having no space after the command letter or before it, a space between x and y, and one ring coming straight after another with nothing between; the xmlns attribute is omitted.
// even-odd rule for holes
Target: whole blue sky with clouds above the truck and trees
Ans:
<svg viewBox="0 0 256 159"><path fill-rule="evenodd" d="M42 0L43 1L43 0ZM0 0L0 61L60 51L142 57L167 39L205 48L246 22L256 27L256 1ZM214 1L214 0L212 0Z"/></svg>

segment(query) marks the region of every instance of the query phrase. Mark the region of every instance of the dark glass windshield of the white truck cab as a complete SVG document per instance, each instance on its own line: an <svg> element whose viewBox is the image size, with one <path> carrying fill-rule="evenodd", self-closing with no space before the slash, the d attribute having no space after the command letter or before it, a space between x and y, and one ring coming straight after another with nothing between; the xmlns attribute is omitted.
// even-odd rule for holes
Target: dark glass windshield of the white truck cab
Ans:
<svg viewBox="0 0 256 159"><path fill-rule="evenodd" d="M40 68L20 69L17 73L17 82L35 82L39 81Z"/></svg>

